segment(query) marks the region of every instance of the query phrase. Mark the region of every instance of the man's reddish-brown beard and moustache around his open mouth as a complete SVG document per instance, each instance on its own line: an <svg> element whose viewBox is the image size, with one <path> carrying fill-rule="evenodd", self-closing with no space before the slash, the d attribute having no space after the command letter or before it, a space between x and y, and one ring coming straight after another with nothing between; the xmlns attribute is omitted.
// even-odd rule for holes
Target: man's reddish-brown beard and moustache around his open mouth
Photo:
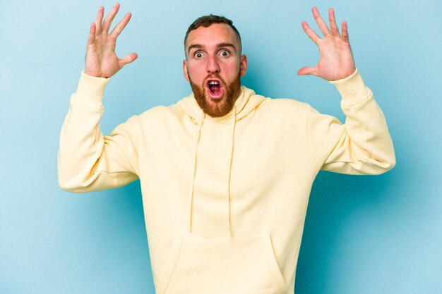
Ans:
<svg viewBox="0 0 442 294"><path fill-rule="evenodd" d="M205 82L209 78L217 78L221 80L222 86L224 87L224 92L221 98L213 99L208 93L206 93ZM226 84L226 82L218 75L211 75L210 77L205 78L203 85L201 86L192 82L190 77L189 82L191 83L193 96L195 97L196 102L200 108L203 109L205 114L208 114L213 118L228 114L237 101L239 94L241 94L241 80L239 73L237 78L235 78L230 84Z"/></svg>

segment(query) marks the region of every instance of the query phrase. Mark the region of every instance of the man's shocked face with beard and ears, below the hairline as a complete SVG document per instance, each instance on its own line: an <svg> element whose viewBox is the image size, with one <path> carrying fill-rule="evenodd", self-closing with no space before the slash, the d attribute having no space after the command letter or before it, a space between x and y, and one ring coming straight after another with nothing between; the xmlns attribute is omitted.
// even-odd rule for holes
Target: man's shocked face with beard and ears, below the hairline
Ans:
<svg viewBox="0 0 442 294"><path fill-rule="evenodd" d="M210 116L225 116L241 93L239 78L247 70L234 30L224 23L198 27L189 33L185 50L184 78L196 102Z"/></svg>

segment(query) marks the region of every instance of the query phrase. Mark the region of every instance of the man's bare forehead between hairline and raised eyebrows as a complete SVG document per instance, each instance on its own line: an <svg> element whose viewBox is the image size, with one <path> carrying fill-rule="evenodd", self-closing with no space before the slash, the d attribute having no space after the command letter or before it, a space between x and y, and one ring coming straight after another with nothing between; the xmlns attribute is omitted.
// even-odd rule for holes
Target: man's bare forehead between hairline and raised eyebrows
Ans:
<svg viewBox="0 0 442 294"><path fill-rule="evenodd" d="M225 23L214 23L209 27L198 27L196 30L189 32L186 40L186 51L189 46L194 44L203 47L216 47L217 44L223 43L234 44L236 49L239 48L239 40L232 27Z"/></svg>

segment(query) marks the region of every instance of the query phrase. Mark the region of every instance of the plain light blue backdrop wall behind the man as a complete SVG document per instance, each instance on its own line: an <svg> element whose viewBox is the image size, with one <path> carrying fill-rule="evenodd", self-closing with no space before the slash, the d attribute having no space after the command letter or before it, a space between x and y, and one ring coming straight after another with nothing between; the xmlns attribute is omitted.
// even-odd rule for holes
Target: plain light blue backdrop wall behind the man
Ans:
<svg viewBox="0 0 442 294"><path fill-rule="evenodd" d="M442 293L442 2L122 1L117 43L138 60L112 78L102 131L190 93L186 28L207 13L234 20L244 85L344 119L338 91L298 77L318 60L301 21L335 8L357 68L388 119L398 164L382 176L321 172L313 185L296 293ZM84 67L97 8L111 1L0 6L0 293L154 293L138 181L76 195L58 187L59 130Z"/></svg>

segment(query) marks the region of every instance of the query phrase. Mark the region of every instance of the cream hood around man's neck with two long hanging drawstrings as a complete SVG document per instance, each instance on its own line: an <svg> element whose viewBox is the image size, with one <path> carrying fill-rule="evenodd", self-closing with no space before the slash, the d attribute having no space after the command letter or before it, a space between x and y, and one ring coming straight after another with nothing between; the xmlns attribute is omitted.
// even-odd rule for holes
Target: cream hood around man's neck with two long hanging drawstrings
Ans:
<svg viewBox="0 0 442 294"><path fill-rule="evenodd" d="M211 116L204 114L203 110L196 102L196 99L193 96L193 94L177 102L177 106L179 106L184 112L186 112L186 114L188 114L191 117L192 121L196 124L196 130L195 130L196 134L194 135L194 142L193 142L193 161L192 161L193 177L192 177L191 189L189 192L189 226L188 226L189 233L192 233L192 208L193 208L193 197L195 190L196 165L198 162L198 142L200 141L201 128L203 128L204 121L213 120L218 123L232 125L230 138L226 138L226 140L230 140L231 142L230 145L231 149L229 151L230 158L229 158L228 169L225 171L225 173L227 173L227 178L228 178L226 183L227 186L225 189L227 235L229 236L229 238L231 238L232 231L230 226L230 174L232 172L232 157L234 150L235 126L237 125L238 121L241 121L241 119L249 115L253 111L253 109L256 109L256 107L259 104L261 104L264 101L264 99L265 98L263 96L256 95L253 90L241 86L241 94L239 94L239 97L235 102L232 110L229 111L229 113L226 114L225 116L220 116L217 118L213 118Z"/></svg>

